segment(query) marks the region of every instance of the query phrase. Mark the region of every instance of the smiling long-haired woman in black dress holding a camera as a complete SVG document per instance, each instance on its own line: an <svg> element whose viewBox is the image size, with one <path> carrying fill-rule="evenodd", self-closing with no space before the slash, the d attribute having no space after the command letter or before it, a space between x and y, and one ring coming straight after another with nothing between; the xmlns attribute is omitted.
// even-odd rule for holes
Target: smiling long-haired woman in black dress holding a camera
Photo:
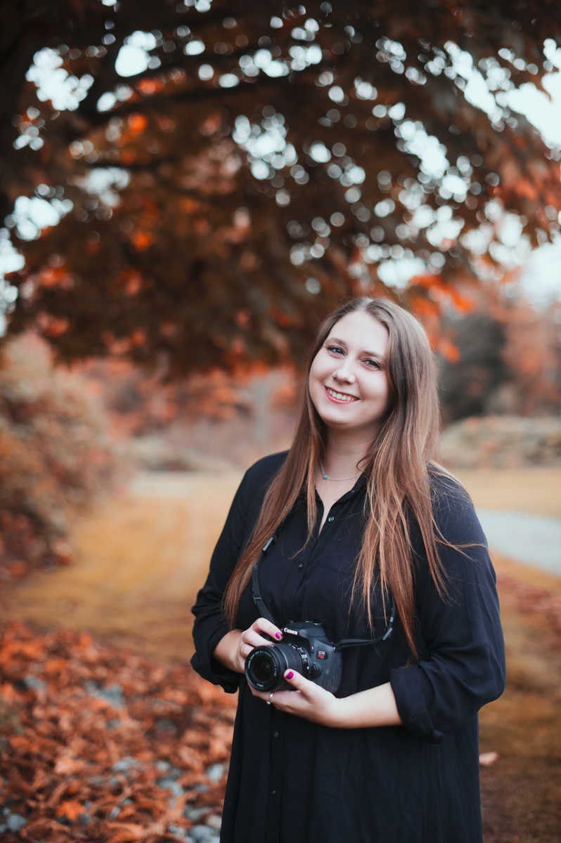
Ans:
<svg viewBox="0 0 561 843"><path fill-rule="evenodd" d="M358 298L321 325L294 444L245 475L198 594L192 665L240 689L222 843L477 843L477 711L504 690L493 567L472 503L432 462L422 327ZM280 528L280 529L279 529ZM259 565L264 604L251 596ZM252 647L289 621L344 651L337 695L299 673L248 685ZM294 692L295 691L295 692ZM267 705L269 703L269 705Z"/></svg>

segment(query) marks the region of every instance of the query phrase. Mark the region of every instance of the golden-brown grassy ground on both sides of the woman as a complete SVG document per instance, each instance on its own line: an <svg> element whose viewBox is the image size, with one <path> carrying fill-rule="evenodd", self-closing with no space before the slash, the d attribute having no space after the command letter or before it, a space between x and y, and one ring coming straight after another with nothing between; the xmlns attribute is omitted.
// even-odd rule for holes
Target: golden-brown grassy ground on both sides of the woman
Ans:
<svg viewBox="0 0 561 843"><path fill-rule="evenodd" d="M476 506L561 518L561 470L463 471ZM143 475L74 529L77 562L2 595L3 618L77 629L109 646L185 663L190 607L236 474ZM558 843L561 828L561 578L494 556L508 685L480 716L486 843Z"/></svg>

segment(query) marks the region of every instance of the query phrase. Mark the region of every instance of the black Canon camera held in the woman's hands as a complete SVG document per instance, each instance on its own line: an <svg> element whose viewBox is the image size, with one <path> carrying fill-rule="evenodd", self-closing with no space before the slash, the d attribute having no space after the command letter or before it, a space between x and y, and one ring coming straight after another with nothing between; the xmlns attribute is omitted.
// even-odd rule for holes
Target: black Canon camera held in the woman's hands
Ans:
<svg viewBox="0 0 561 843"><path fill-rule="evenodd" d="M295 670L335 694L341 685L343 655L326 636L321 624L291 624L283 628L283 641L254 647L245 659L245 678L257 690L294 690L284 679Z"/></svg>

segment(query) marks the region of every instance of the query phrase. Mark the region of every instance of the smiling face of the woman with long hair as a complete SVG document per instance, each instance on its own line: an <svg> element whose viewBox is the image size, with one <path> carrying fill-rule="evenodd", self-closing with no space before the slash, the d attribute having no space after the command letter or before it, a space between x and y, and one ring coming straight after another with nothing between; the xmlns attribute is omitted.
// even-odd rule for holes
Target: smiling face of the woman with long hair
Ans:
<svg viewBox="0 0 561 843"><path fill-rule="evenodd" d="M363 311L333 325L310 368L310 397L326 426L374 438L389 403L388 331Z"/></svg>

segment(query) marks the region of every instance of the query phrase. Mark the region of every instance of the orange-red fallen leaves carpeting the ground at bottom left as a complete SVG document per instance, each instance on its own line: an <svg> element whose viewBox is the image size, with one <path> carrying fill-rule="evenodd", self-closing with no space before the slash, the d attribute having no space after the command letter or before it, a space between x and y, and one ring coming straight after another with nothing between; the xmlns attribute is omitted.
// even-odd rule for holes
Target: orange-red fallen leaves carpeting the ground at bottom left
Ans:
<svg viewBox="0 0 561 843"><path fill-rule="evenodd" d="M234 717L187 666L1 626L3 843L218 840Z"/></svg>

